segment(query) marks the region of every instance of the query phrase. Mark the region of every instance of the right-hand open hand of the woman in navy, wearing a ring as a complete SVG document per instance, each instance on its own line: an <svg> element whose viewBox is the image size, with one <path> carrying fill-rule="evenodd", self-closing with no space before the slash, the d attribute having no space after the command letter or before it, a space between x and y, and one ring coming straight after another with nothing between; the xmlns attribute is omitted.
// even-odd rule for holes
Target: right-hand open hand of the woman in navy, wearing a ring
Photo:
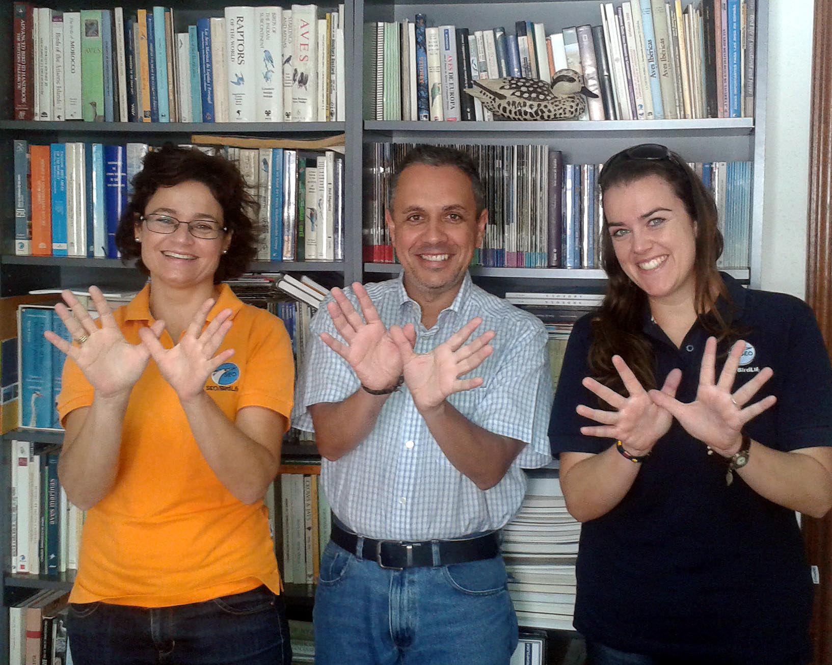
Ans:
<svg viewBox="0 0 832 665"><path fill-rule="evenodd" d="M745 406L771 378L773 372L770 367L760 370L752 380L731 394L743 350L743 340L737 341L731 347L717 381L716 338L708 338L705 354L702 355L699 388L696 390L696 399L690 404L682 404L669 395L662 395L658 390L650 391L653 402L670 411L688 434L701 440L723 457L730 457L740 450L741 431L745 423L769 409L777 401L774 395L769 395L759 402Z"/></svg>

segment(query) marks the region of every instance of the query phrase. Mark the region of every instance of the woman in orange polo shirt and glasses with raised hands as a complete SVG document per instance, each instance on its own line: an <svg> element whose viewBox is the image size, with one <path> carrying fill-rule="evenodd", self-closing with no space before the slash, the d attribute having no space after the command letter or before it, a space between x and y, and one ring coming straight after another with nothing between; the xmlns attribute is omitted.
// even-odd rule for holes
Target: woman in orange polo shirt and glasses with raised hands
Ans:
<svg viewBox="0 0 832 665"><path fill-rule="evenodd" d="M256 204L229 161L150 152L116 231L148 284L92 320L68 291L72 333L58 473L87 510L70 597L80 665L289 665L280 574L263 504L289 426L283 324L221 280L255 257Z"/></svg>

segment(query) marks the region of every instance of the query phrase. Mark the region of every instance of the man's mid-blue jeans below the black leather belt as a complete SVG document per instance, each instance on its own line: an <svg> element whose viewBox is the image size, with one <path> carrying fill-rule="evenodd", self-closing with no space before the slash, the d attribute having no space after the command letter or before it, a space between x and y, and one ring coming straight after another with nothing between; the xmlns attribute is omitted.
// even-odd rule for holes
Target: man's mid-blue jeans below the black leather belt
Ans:
<svg viewBox="0 0 832 665"><path fill-rule="evenodd" d="M313 618L317 665L508 665L518 643L500 556L390 570L330 541Z"/></svg>

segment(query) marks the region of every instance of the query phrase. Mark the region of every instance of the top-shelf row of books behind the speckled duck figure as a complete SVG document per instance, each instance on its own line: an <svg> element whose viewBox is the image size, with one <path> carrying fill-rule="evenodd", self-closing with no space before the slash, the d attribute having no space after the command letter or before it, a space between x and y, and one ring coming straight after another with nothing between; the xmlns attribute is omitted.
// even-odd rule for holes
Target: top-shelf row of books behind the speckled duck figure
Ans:
<svg viewBox="0 0 832 665"><path fill-rule="evenodd" d="M414 21L364 31L369 119L493 120L473 81L550 81L571 68L597 99L580 120L753 116L755 0L629 0L601 5L602 24L547 34L541 22L469 30Z"/></svg>

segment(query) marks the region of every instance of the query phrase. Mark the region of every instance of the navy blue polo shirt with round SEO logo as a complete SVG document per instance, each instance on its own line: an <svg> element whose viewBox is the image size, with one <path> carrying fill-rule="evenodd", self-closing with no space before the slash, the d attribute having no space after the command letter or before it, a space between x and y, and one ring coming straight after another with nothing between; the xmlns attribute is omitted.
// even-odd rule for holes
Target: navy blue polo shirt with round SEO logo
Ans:
<svg viewBox="0 0 832 665"><path fill-rule="evenodd" d="M755 396L775 406L746 425L751 439L790 451L832 445L832 368L815 315L790 295L745 290L722 275L734 306L717 303L750 344L735 390L765 366L774 375ZM575 412L597 398L589 375L592 315L567 345L552 406L554 454L601 453L614 441L583 436L594 424ZM678 367L676 399L696 399L706 329L699 321L676 348L644 316L656 357L656 384ZM730 342L721 345L723 353ZM717 359L717 376L722 359ZM812 583L789 509L763 499L706 453L674 420L631 489L609 513L583 525L577 558L575 627L587 638L631 653L700 663L808 663Z"/></svg>

